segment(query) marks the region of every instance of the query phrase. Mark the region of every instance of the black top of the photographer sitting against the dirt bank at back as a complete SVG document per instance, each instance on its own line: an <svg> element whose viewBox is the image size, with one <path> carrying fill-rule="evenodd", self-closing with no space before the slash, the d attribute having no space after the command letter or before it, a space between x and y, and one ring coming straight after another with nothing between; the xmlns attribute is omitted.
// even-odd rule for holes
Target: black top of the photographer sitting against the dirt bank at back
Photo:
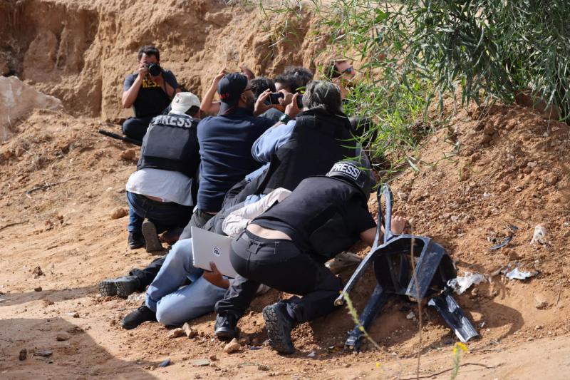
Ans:
<svg viewBox="0 0 570 380"><path fill-rule="evenodd" d="M137 77L138 73L130 74L125 78L123 92L128 91L128 89L133 86ZM162 70L162 78L165 78L165 82L170 84L172 88L177 89L180 87L172 71ZM160 115L169 104L170 98L168 98L165 90L161 88L160 85L150 79L143 79L138 91L138 96L135 99L135 103L133 103L135 118L147 118Z"/></svg>

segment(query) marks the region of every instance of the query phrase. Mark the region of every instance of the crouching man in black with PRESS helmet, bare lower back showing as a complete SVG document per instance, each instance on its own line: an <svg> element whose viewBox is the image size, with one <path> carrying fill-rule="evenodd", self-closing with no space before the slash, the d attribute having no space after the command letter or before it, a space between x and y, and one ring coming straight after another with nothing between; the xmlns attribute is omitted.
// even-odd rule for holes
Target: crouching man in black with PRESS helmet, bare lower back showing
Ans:
<svg viewBox="0 0 570 380"><path fill-rule="evenodd" d="M237 320L259 284L299 294L263 309L269 344L294 352L291 329L333 311L341 279L324 263L359 239L373 244L376 223L368 212L371 177L353 161L339 162L326 174L303 180L283 202L252 220L232 242L230 260L239 276L216 304L214 332L237 335ZM405 225L394 217L392 230Z"/></svg>

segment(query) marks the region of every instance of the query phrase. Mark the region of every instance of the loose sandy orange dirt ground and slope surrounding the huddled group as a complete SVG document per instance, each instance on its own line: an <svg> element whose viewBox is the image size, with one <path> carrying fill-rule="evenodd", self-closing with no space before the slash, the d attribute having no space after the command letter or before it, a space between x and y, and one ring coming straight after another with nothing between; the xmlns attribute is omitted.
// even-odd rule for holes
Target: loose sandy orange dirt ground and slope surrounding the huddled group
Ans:
<svg viewBox="0 0 570 380"><path fill-rule="evenodd" d="M441 130L426 140L418 160L426 167L457 149L457 143L447 148L449 134L465 145L453 160L440 160L435 169L403 172L391 183L395 205L413 218L416 233L434 237L449 250L460 274L481 272L490 277L489 282L457 296L481 334L468 344L470 351L462 363L474 365L462 367L461 376L531 379L548 374L541 378L563 379L570 364L565 247L569 227L564 199L569 172L561 159L568 127L550 125L551 135L544 137L544 119L527 108L496 108L484 116L476 113L460 113L453 130ZM502 129L504 120L499 119L516 123ZM499 127L482 145L480 139L489 124ZM156 323L123 330L120 320L138 307L142 295L100 297L94 285L131 267L143 267L155 256L129 250L126 217L112 219L113 213L120 215L125 209L124 184L135 170L138 150L98 135L96 130L102 126L118 129L97 119L38 110L18 126L14 138L1 145L1 374L24 379L38 374L66 379L413 376L420 337L418 322L406 318L410 311L417 315L415 304L407 299L390 300L371 327L371 336L383 349L364 344L359 354L341 349L353 327L343 309L298 327L293 334L298 353L275 354L264 343L261 317L264 305L281 297L275 291L256 299L240 322L242 349L236 354L225 354L224 344L214 339L214 314L192 322L198 332L192 339L171 339L168 329ZM525 137L529 135L539 136L538 140ZM561 143L544 150L549 145L544 140ZM500 158L512 150L524 153L524 158L519 156L524 165ZM474 155L479 155L477 160ZM533 160L537 165L529 166ZM462 165L470 165L469 178L457 175ZM504 166L503 171L511 171L489 175ZM549 173L556 180L548 180ZM376 209L373 197L370 207ZM487 237L502 239L507 222L519 231L507 247L490 252ZM532 232L539 223L549 232L547 242L532 245ZM366 254L363 247L354 248ZM492 276L509 263L537 274L525 281ZM347 279L350 274L351 269L346 269L341 277ZM358 309L374 282L372 274L366 275L351 294ZM451 368L457 339L434 310L425 309L423 321L420 368L427 376ZM58 340L60 334L64 340ZM18 357L21 349L28 353L23 361ZM42 350L51 351L51 356L33 356ZM158 368L165 359L172 364ZM210 364L195 366L196 359L208 359ZM447 376L449 372L440 378Z"/></svg>

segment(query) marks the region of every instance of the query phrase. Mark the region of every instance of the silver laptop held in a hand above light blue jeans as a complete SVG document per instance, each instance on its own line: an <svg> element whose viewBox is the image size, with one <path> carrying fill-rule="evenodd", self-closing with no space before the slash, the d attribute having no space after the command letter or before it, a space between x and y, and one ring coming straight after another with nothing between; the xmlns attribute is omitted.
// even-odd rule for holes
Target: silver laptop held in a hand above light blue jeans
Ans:
<svg viewBox="0 0 570 380"><path fill-rule="evenodd" d="M232 267L232 263L229 262L229 246L233 239L197 227L190 227L190 230L192 232L194 266L211 271L209 262L214 262L220 273L235 278L237 272Z"/></svg>

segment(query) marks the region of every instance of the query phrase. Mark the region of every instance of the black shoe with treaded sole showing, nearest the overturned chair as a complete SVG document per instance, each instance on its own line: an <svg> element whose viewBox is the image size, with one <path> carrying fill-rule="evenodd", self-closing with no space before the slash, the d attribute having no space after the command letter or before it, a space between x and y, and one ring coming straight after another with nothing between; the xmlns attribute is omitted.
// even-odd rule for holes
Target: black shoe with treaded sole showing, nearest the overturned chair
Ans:
<svg viewBox="0 0 570 380"><path fill-rule="evenodd" d="M267 328L269 346L280 354L293 354L295 347L291 342L291 329L295 321L289 317L285 302L277 302L264 307L263 318Z"/></svg>

